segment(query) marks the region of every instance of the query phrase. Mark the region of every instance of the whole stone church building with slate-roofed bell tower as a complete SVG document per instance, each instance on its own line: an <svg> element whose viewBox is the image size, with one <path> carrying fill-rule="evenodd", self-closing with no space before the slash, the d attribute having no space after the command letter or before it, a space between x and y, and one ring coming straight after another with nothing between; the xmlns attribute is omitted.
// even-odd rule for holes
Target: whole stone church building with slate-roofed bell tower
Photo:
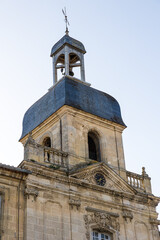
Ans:
<svg viewBox="0 0 160 240"><path fill-rule="evenodd" d="M145 168L126 170L120 106L85 81L85 52L68 34L53 46L54 84L24 115L24 160L0 165L2 240L160 239L160 199Z"/></svg>

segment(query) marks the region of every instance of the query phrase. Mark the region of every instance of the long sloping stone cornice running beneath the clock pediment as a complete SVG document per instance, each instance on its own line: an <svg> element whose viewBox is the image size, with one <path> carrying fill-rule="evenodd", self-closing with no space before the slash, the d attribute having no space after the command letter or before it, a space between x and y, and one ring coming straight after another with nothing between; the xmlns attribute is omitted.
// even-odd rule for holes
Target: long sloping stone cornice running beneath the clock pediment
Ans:
<svg viewBox="0 0 160 240"><path fill-rule="evenodd" d="M72 173L72 175L70 175L68 177L68 175L66 174L67 172L63 169L53 170L49 167L46 167L46 165L44 165L42 163L32 162L29 160L23 161L21 163L21 167L23 167L23 169L27 169L27 170L31 171L32 174L35 176L40 175L41 177L44 177L47 179L54 179L54 180L64 183L64 184L72 184L74 186L80 186L82 188L84 187L85 189L96 190L101 193L107 193L110 196L116 197L118 199L127 199L129 201L142 203L147 206L148 206L148 204L157 206L157 204L160 200L160 198L158 198L158 197L155 197L153 195L148 195L146 193L140 193L140 192L137 192L136 190L133 190L132 193L126 192L126 191L122 192L118 189L113 190L113 189L105 188L105 187L102 187L102 186L99 186L96 184L91 184L91 183L79 178L79 175L83 173L82 171L74 173L74 174ZM91 165L89 167L93 167L93 165ZM99 169L97 169L97 171L99 171ZM130 187L129 187L129 189L130 189ZM136 194L134 194L134 192Z"/></svg>

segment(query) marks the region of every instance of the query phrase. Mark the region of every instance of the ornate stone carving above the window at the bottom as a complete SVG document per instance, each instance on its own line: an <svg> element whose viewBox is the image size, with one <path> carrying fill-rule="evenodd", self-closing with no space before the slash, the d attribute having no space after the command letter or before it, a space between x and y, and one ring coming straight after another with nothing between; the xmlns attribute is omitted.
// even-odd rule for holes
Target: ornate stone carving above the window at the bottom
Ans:
<svg viewBox="0 0 160 240"><path fill-rule="evenodd" d="M98 231L120 231L120 224L116 217L108 213L94 212L84 216L86 226L86 238L90 239L90 228L96 227Z"/></svg>

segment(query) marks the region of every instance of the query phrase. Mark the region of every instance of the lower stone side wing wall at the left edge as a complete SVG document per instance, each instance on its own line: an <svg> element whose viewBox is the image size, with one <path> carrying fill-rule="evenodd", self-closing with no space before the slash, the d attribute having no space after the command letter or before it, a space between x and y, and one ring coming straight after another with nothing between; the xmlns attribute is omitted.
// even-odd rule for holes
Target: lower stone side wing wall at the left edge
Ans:
<svg viewBox="0 0 160 240"><path fill-rule="evenodd" d="M24 239L24 182L26 173L0 168L0 236L2 240Z"/></svg>

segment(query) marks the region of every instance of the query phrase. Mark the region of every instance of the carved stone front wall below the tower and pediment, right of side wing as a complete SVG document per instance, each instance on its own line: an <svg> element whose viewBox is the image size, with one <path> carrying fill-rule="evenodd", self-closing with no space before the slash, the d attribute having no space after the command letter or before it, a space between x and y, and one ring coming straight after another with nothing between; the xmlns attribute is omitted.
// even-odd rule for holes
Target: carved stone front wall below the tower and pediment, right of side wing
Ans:
<svg viewBox="0 0 160 240"><path fill-rule="evenodd" d="M157 221L154 196L127 185L122 191L121 182L121 191L116 183L104 188L35 165L25 163L32 170L26 182L26 240L89 240L93 230L109 233L113 240L159 239L159 223L151 221Z"/></svg>

